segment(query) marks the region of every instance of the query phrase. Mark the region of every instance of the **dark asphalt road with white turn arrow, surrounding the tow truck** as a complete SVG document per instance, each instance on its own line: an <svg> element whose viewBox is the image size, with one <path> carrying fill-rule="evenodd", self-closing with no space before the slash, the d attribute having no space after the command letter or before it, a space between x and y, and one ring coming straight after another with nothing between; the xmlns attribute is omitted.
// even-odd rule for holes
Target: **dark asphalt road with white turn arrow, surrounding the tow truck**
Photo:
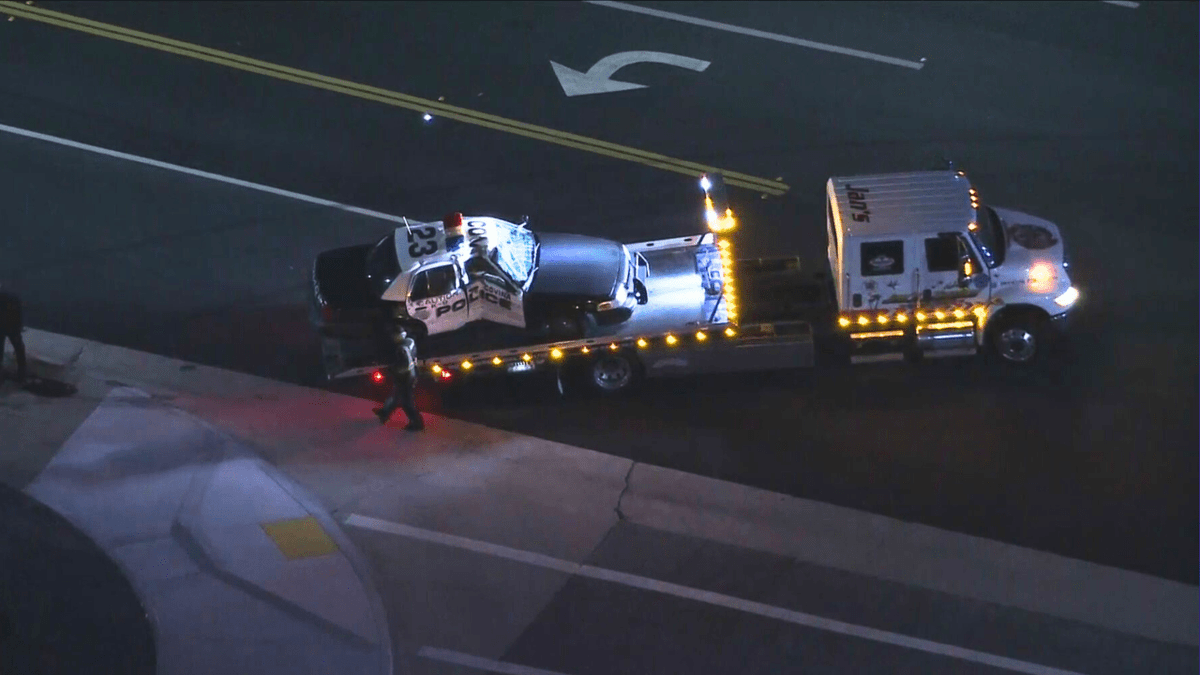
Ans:
<svg viewBox="0 0 1200 675"><path fill-rule="evenodd" d="M950 156L985 202L1063 229L1085 300L1045 370L818 369L448 412L1198 581L1194 4L670 5L920 70L574 2L37 7L781 178L779 198L734 191L750 256L818 264L827 177ZM0 124L390 214L625 240L700 226L685 173L25 18L0 31ZM550 66L634 49L712 65L634 65L617 79L647 88L570 98ZM30 325L292 382L319 381L307 262L386 229L10 135L0 156L0 275Z"/></svg>

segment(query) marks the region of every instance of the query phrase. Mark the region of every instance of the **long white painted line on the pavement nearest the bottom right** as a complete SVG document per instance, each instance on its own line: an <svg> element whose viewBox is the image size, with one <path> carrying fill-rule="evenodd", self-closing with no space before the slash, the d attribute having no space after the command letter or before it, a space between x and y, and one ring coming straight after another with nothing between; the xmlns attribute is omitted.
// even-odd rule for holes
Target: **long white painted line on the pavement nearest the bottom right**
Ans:
<svg viewBox="0 0 1200 675"><path fill-rule="evenodd" d="M805 614L803 611L794 611L781 607L774 607L743 598L736 598L733 596L726 596L724 593L716 593L713 591L703 591L700 589L692 589L690 586L680 586L678 584L659 581L658 579L649 579L647 577L638 577L636 574L628 574L625 572L616 572L612 569L592 567L590 565L580 565L576 562L570 562L566 560L560 560L542 554L535 554L521 549L512 549L509 546L502 546L499 544L480 542L478 539L468 539L466 537L446 534L444 532L422 530L420 527L413 527L412 525L403 525L401 522L380 520L378 518L372 518L370 515L360 515L356 513L350 514L344 522L346 525L349 525L352 527L361 527L364 530L373 530L376 532L397 534L401 537L409 537L422 542L454 546L468 551L524 562L528 565L553 569L556 572L563 572L577 577L588 577L601 581L620 584L632 589L641 589L643 591L652 591L655 593L674 596L678 598L701 602L714 607L722 607L726 609L745 611L748 614L756 614L758 616L766 616L768 619L775 619L779 621L785 621L787 623L794 623L797 626L817 628L821 631L829 631L830 633L840 633L842 635L862 638L864 640L872 640L876 643L895 645L938 656L959 658L972 663L980 663L984 665L991 665L995 668L1012 670L1014 673L1026 673L1028 675L1081 675L1080 673L1076 673L1074 670L1051 668L1049 665L1040 665L1037 663L1030 663L1027 661L1020 661L1016 658L1008 658L1004 656L997 656L994 653L968 650L954 645L947 645L943 643L935 643L932 640L924 640L922 638L902 635L900 633L893 633L890 631L881 631L878 628L858 626L856 623L846 623L844 621L836 621L833 619L826 619L823 616Z"/></svg>

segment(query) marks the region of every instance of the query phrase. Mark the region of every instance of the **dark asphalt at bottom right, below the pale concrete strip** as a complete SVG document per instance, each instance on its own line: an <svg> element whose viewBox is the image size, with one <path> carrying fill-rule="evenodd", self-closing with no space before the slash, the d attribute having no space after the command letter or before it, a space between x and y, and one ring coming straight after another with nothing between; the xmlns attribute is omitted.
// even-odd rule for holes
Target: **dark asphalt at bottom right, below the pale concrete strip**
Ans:
<svg viewBox="0 0 1200 675"><path fill-rule="evenodd" d="M628 522L584 561L606 579L355 527L348 534L378 571L397 671L414 675L482 671L448 662L497 653L516 669L492 671L529 675L1196 671L1195 649L1183 645ZM760 604L701 599L709 593Z"/></svg>

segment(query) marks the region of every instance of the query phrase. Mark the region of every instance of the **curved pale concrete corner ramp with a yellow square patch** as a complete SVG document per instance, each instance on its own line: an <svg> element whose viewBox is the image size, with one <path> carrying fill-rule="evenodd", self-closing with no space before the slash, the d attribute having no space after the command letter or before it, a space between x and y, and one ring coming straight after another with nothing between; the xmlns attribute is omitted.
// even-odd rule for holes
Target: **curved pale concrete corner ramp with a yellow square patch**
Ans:
<svg viewBox="0 0 1200 675"><path fill-rule="evenodd" d="M125 573L154 626L157 673L391 673L370 574L313 500L220 429L94 377L29 333L32 374L78 392L47 399L8 384L0 436L17 447L0 467ZM38 595L55 592L55 578L41 581Z"/></svg>

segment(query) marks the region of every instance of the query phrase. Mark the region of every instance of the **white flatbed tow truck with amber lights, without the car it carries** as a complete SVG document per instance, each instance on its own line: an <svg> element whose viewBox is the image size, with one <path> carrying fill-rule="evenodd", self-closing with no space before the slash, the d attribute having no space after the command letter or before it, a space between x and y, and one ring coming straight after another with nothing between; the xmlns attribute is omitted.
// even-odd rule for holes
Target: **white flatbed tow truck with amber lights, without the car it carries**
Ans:
<svg viewBox="0 0 1200 675"><path fill-rule="evenodd" d="M643 377L992 354L1031 366L1080 293L1054 223L984 204L961 171L830 178L827 267L739 259L738 219L719 174L700 180L708 232L629 244L654 273L648 303L583 338L426 351L422 375L458 382L553 369L613 394ZM323 344L330 378L372 375L378 352Z"/></svg>

